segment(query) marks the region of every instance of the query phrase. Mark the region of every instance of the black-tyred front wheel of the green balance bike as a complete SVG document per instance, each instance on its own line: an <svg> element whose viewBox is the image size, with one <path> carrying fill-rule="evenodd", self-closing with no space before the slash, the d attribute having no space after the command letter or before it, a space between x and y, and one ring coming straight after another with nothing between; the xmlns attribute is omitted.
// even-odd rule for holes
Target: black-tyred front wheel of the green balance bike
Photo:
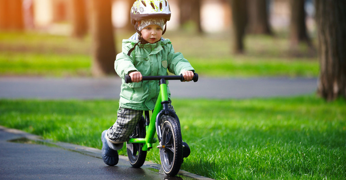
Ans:
<svg viewBox="0 0 346 180"><path fill-rule="evenodd" d="M174 118L167 118L161 127L160 159L163 171L168 176L175 176L183 160L183 145L179 123Z"/></svg>

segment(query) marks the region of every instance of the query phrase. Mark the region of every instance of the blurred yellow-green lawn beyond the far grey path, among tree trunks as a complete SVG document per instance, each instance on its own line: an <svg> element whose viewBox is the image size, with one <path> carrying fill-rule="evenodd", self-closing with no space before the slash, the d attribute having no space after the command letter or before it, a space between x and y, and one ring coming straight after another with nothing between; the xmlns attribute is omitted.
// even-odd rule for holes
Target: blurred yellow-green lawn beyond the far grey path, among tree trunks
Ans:
<svg viewBox="0 0 346 180"><path fill-rule="evenodd" d="M133 32L116 31L116 49ZM199 36L167 32L176 52L182 52L201 76L317 77L316 53L299 46L292 53L283 37L247 36L246 53L231 54L227 33ZM74 39L40 33L0 32L0 76L91 76L91 38Z"/></svg>

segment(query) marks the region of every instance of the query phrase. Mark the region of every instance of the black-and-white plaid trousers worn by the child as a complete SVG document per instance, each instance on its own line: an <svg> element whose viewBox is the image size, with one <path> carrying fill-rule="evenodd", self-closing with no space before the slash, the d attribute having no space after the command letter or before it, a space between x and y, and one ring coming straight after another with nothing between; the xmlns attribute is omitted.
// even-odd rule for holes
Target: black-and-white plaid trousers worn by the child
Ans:
<svg viewBox="0 0 346 180"><path fill-rule="evenodd" d="M168 107L174 111L171 101L168 104ZM130 135L142 116L142 110L119 107L117 121L107 131L108 139L113 141L112 143L122 143L128 141ZM161 121L167 117L168 116L163 116Z"/></svg>

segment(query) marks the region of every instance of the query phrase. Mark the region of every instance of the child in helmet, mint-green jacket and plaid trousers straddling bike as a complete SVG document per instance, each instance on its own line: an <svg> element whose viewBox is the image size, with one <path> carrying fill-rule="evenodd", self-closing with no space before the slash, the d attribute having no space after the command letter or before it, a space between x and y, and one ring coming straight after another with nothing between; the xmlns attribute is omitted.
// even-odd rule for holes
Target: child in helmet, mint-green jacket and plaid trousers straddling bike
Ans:
<svg viewBox="0 0 346 180"><path fill-rule="evenodd" d="M161 37L171 17L167 0L137 0L131 8L130 17L137 32L122 40L122 52L114 63L116 72L122 78L117 121L101 135L102 159L109 166L118 163L117 150L129 139L143 111L155 107L160 87L157 81L142 81L142 77L166 76L169 70L177 75L183 74L186 81L191 81L194 72L183 55L174 52L170 40ZM126 74L131 77L132 83L125 83ZM170 98L168 87L167 94ZM171 103L169 108L174 110ZM183 144L185 158L189 156L190 149L188 144Z"/></svg>

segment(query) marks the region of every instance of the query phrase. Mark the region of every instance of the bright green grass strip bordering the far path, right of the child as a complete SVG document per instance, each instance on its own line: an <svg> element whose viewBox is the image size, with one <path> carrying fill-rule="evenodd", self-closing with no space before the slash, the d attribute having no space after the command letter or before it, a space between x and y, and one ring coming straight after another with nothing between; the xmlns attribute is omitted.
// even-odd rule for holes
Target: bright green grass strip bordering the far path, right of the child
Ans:
<svg viewBox="0 0 346 180"><path fill-rule="evenodd" d="M202 75L212 77L317 77L319 67L316 62L290 60L289 58L238 57L228 59L189 58L191 64Z"/></svg>

